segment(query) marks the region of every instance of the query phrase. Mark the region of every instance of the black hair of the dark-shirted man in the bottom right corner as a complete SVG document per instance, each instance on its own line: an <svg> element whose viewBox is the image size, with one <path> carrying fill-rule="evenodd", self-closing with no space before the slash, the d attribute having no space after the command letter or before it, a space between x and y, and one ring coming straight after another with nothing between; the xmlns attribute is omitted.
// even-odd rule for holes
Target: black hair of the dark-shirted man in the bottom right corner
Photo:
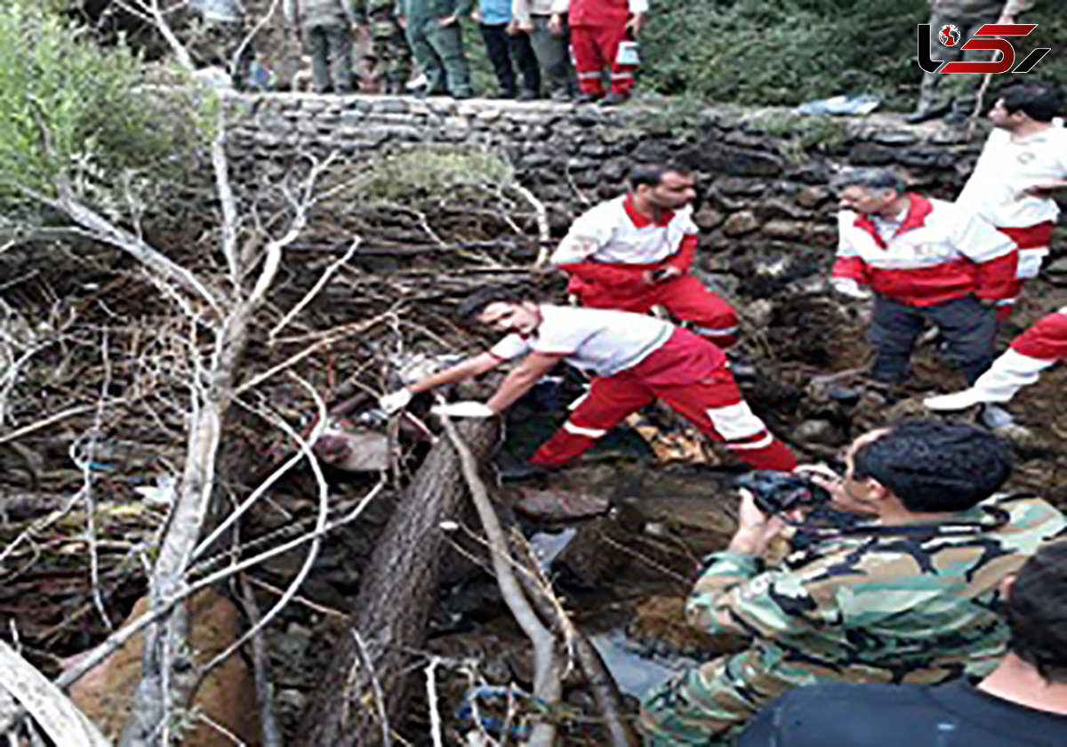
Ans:
<svg viewBox="0 0 1067 747"><path fill-rule="evenodd" d="M1007 594L1008 651L1047 682L1067 683L1067 540L1023 565Z"/></svg>

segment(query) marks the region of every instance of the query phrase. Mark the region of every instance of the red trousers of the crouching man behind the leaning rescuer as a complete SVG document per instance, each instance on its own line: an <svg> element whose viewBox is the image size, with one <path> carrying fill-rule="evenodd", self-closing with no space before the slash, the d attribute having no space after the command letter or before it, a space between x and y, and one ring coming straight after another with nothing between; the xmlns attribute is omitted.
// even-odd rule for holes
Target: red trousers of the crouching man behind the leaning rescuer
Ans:
<svg viewBox="0 0 1067 747"><path fill-rule="evenodd" d="M653 306L664 306L673 318L690 322L694 332L720 348L729 348L737 341L734 309L692 275L679 275L639 290L593 285L572 277L568 290L578 297L583 306L590 308L648 314Z"/></svg>

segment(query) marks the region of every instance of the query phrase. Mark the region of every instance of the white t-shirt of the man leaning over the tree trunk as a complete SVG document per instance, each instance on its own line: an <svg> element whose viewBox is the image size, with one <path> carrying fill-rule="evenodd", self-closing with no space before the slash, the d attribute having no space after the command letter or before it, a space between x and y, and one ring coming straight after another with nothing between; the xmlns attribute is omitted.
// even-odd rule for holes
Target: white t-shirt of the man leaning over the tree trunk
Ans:
<svg viewBox="0 0 1067 747"><path fill-rule="evenodd" d="M562 355L575 368L612 376L638 363L670 339L674 325L644 314L543 304L541 324L523 337L514 332L490 348L503 361L527 353Z"/></svg>

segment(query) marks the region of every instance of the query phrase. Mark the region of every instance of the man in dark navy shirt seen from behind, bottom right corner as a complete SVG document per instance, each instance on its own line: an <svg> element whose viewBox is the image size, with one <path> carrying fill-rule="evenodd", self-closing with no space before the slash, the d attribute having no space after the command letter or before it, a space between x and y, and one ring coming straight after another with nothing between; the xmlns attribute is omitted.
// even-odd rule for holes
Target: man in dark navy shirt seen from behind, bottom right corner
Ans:
<svg viewBox="0 0 1067 747"><path fill-rule="evenodd" d="M737 747L1067 745L1067 542L1041 547L1002 591L1008 653L981 682L799 687Z"/></svg>

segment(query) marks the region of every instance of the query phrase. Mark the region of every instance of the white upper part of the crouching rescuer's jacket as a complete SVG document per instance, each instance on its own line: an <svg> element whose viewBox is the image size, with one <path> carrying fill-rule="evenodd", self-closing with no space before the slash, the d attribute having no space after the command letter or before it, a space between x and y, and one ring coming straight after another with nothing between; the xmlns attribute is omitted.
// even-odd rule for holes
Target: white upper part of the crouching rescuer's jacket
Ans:
<svg viewBox="0 0 1067 747"><path fill-rule="evenodd" d="M636 222L635 222L636 221ZM578 217L552 254L553 265L592 260L654 265L678 253L687 235L699 232L692 207L674 211L667 225L656 225L626 210L626 195L596 205Z"/></svg>

